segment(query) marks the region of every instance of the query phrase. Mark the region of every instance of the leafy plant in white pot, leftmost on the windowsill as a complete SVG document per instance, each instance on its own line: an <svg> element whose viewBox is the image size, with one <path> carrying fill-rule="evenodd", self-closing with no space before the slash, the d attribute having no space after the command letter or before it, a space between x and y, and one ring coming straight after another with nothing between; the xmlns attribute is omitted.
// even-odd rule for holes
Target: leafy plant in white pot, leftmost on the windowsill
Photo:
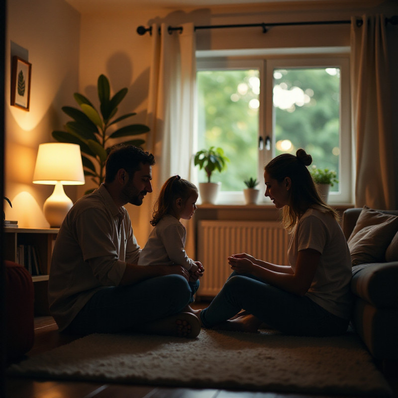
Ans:
<svg viewBox="0 0 398 398"><path fill-rule="evenodd" d="M202 203L215 203L221 183L212 183L211 175L215 170L222 172L227 166L226 162L229 162L229 159L224 155L222 148L211 146L209 149L202 149L195 154L195 166L199 166L199 170L204 169L207 175L207 182L199 183Z"/></svg>

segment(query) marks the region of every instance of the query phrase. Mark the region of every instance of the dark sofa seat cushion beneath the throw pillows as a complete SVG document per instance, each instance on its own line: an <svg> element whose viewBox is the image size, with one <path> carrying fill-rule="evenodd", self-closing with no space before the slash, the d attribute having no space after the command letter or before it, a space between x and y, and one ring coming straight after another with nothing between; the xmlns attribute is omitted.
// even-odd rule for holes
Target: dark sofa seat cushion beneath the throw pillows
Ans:
<svg viewBox="0 0 398 398"><path fill-rule="evenodd" d="M351 291L376 307L398 309L398 262L352 267Z"/></svg>

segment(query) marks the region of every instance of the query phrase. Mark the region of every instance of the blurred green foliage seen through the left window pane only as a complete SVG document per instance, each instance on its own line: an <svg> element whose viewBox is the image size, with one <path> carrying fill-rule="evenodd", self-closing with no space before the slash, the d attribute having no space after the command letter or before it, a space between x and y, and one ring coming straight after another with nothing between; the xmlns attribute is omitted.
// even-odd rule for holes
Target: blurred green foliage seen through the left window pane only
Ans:
<svg viewBox="0 0 398 398"><path fill-rule="evenodd" d="M258 108L249 103L258 100L253 91L258 77L257 70L198 73L198 145L221 147L230 159L228 169L212 177L222 191L241 191L242 181L257 175ZM199 181L205 180L200 171Z"/></svg>

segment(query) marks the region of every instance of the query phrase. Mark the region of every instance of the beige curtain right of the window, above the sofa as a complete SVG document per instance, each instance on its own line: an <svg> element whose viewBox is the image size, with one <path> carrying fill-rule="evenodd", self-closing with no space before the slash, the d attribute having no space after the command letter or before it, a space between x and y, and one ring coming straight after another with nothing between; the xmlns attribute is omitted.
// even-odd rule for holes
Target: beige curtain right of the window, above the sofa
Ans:
<svg viewBox="0 0 398 398"><path fill-rule="evenodd" d="M351 20L352 128L356 148L355 205L396 208L394 137L386 22Z"/></svg>

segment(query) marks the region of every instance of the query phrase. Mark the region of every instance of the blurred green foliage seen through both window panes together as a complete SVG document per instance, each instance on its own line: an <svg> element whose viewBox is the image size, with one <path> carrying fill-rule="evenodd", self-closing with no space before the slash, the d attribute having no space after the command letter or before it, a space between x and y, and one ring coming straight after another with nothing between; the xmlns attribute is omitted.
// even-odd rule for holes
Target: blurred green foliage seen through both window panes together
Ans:
<svg viewBox="0 0 398 398"><path fill-rule="evenodd" d="M274 70L273 93L275 155L302 147L319 168L338 176L340 70ZM199 148L223 148L231 161L214 180L221 181L223 191L241 191L241 182L259 169L259 71L200 71L198 99Z"/></svg>

